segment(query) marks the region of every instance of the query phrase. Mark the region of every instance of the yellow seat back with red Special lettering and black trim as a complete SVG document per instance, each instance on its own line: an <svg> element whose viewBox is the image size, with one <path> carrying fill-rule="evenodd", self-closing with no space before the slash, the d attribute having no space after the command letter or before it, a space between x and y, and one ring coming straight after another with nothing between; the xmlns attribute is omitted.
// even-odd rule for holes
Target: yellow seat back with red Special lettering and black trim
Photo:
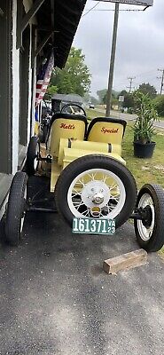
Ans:
<svg viewBox="0 0 164 355"><path fill-rule="evenodd" d="M93 142L120 145L127 122L124 120L98 117L90 122L87 139Z"/></svg>

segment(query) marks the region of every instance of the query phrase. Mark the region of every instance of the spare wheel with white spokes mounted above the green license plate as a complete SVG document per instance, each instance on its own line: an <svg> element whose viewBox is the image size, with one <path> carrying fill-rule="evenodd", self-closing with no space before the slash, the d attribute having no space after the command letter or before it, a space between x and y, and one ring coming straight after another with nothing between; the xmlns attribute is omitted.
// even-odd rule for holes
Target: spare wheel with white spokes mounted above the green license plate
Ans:
<svg viewBox="0 0 164 355"><path fill-rule="evenodd" d="M60 214L72 225L74 217L127 221L137 199L137 186L129 170L105 155L87 155L62 171L55 199Z"/></svg>

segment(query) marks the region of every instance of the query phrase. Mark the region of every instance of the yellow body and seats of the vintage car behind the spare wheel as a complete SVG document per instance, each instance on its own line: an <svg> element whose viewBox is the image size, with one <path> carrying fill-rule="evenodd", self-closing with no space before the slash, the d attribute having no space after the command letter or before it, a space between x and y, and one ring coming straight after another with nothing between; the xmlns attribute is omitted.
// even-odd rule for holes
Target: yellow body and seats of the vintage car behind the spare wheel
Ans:
<svg viewBox="0 0 164 355"><path fill-rule="evenodd" d="M90 130L88 141L84 140L84 133L85 123L78 119L59 118L53 122L49 151L52 156L51 192L54 192L61 170L82 156L103 154L126 165L126 162L121 158L123 135L121 123L96 122ZM109 149L111 149L111 153L108 153ZM88 178L85 177L86 182ZM99 176L99 178L101 177ZM107 185L113 183L112 177L107 177L107 179ZM76 189L80 191L82 186L77 184Z"/></svg>

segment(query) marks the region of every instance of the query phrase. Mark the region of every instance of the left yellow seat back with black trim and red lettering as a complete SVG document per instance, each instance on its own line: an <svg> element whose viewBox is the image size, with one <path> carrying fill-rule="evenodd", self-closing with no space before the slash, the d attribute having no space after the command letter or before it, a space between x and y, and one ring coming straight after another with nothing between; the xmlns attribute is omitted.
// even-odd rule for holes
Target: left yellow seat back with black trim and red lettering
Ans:
<svg viewBox="0 0 164 355"><path fill-rule="evenodd" d="M74 114L59 114L51 124L50 154L59 156L59 141L61 138L83 140L87 126L85 116Z"/></svg>

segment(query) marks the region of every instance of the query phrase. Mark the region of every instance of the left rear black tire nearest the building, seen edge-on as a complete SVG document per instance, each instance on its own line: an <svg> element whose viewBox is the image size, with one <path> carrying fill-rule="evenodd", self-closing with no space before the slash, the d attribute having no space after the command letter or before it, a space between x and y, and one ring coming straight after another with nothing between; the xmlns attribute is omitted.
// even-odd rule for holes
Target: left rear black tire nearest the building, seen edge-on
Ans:
<svg viewBox="0 0 164 355"><path fill-rule="evenodd" d="M18 171L12 179L6 210L5 237L11 245L18 246L21 234L21 221L25 212L26 172Z"/></svg>

